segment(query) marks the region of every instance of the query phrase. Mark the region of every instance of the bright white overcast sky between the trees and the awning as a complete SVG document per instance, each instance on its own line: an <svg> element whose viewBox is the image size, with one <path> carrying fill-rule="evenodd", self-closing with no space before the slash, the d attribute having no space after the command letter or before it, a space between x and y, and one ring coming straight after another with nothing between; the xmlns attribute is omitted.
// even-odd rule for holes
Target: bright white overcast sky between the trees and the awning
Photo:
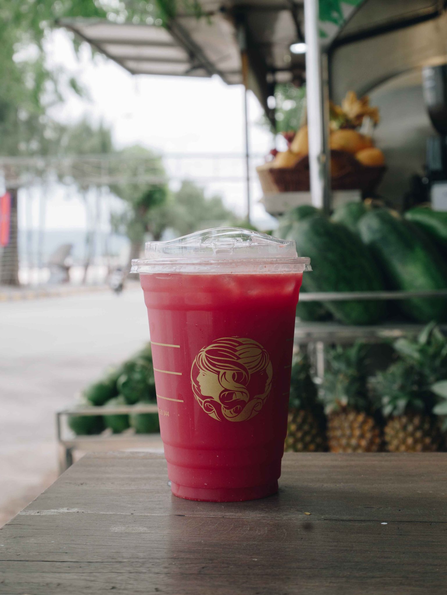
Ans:
<svg viewBox="0 0 447 595"><path fill-rule="evenodd" d="M52 68L70 70L87 90L88 99L81 99L71 89L64 91L63 104L52 109L52 115L65 123L87 117L95 123L104 121L112 130L115 146L143 145L161 155L213 154L243 155L243 89L228 86L215 76L211 79L133 76L115 62L102 55L92 56L88 44L81 46L76 56L70 37L64 29L51 33L46 42L48 64ZM273 136L260 125L262 109L254 95L249 95L250 150L257 162L273 146ZM200 171L226 172L237 181L209 179L202 183L207 195L220 194L227 206L240 216L246 212L243 161L204 159L195 164L182 161L182 170L200 183ZM255 161L255 159L254 159ZM198 167L199 165L199 167ZM199 174L198 174L199 172ZM207 176L208 178L210 176ZM174 182L174 186L177 182ZM39 221L46 229L85 227L82 201L73 189L51 187L45 191L45 209L30 196L42 195L40 189L23 193L21 202L30 205L20 209L22 227L35 227ZM252 220L269 228L274 220L258 202L262 196L254 176L251 184ZM31 204L32 203L32 204ZM19 205L20 206L20 205ZM105 223L107 224L107 223Z"/></svg>

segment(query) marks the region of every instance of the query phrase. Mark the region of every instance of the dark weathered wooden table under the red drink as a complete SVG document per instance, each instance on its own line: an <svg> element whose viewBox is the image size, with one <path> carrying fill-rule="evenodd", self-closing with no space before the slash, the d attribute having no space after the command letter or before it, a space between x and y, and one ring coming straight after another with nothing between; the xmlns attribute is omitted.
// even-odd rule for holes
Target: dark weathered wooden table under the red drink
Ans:
<svg viewBox="0 0 447 595"><path fill-rule="evenodd" d="M0 571L8 595L447 593L447 454L288 453L279 494L227 504L171 496L160 455L87 455L0 531Z"/></svg>

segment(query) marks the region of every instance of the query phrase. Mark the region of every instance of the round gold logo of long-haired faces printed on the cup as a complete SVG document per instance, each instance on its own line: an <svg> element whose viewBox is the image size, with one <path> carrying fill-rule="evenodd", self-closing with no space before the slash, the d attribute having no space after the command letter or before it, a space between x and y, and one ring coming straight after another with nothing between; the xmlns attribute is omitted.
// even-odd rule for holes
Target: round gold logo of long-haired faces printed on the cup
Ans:
<svg viewBox="0 0 447 595"><path fill-rule="evenodd" d="M192 364L191 384L201 408L219 421L255 417L271 390L267 351L252 339L223 337L203 347Z"/></svg>

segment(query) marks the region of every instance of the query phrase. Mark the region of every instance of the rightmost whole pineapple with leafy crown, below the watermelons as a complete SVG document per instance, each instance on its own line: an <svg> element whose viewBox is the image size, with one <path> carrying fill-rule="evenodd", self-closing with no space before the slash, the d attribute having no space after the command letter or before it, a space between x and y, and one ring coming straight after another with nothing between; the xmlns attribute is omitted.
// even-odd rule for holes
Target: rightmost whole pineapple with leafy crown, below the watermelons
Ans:
<svg viewBox="0 0 447 595"><path fill-rule="evenodd" d="M383 417L389 452L434 452L440 445L439 425L433 415L433 393L424 389L420 372L398 361L373 378Z"/></svg>

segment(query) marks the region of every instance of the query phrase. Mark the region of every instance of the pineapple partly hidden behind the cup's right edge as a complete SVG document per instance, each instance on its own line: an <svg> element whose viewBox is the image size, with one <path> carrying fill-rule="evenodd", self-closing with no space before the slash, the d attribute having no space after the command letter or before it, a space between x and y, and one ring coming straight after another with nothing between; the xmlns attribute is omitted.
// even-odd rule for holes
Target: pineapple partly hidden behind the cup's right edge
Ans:
<svg viewBox="0 0 447 595"><path fill-rule="evenodd" d="M299 353L292 365L289 417L285 451L326 450L323 408L317 401L317 387L310 375L308 356Z"/></svg>

